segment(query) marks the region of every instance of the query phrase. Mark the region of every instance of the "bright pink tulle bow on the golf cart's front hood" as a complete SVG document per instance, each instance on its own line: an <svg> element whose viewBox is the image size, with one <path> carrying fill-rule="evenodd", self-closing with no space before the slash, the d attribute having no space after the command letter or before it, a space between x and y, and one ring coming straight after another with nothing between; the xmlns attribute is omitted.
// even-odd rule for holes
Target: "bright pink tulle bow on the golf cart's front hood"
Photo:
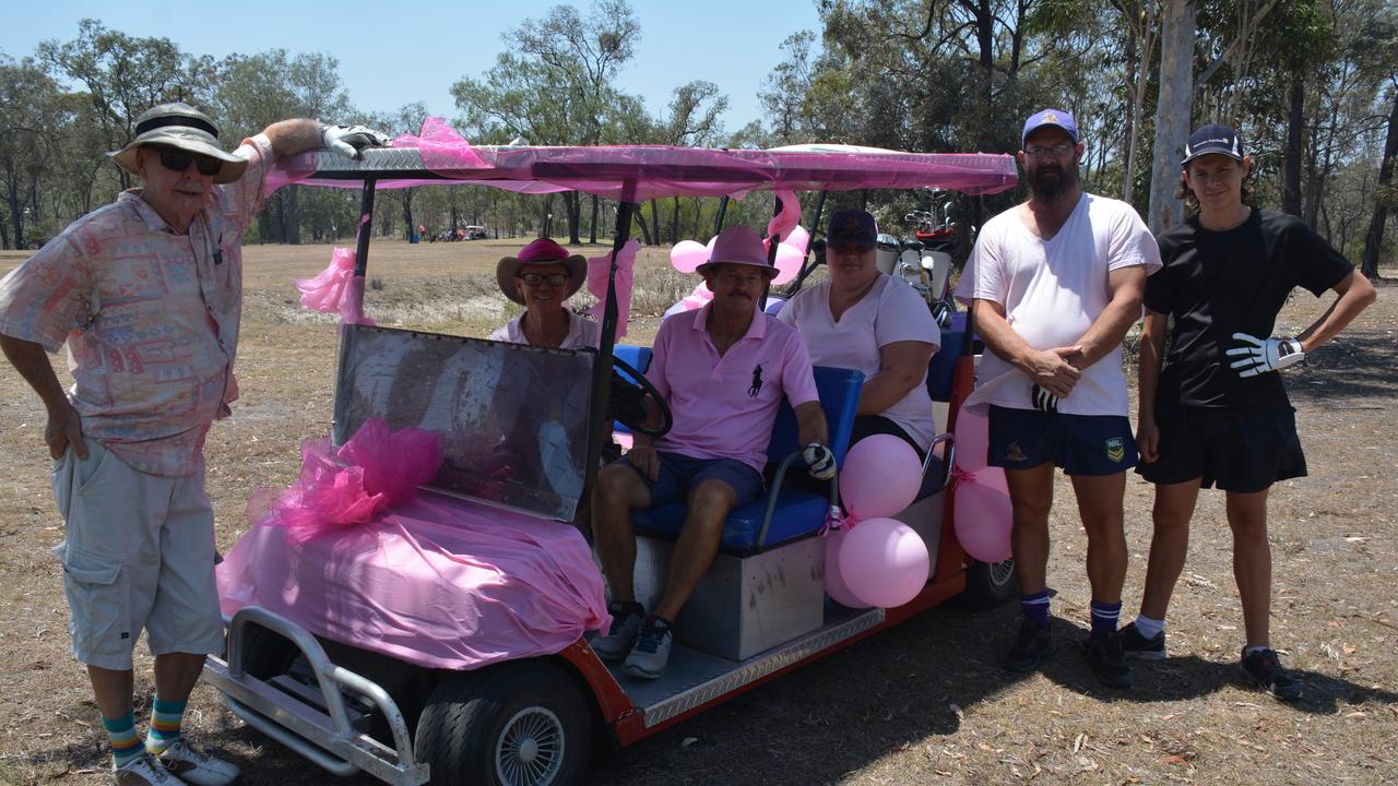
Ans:
<svg viewBox="0 0 1398 786"><path fill-rule="evenodd" d="M370 418L338 450L329 439L305 441L301 478L261 523L285 529L294 544L366 524L411 499L440 466L439 434L418 428L390 434L389 424Z"/></svg>

